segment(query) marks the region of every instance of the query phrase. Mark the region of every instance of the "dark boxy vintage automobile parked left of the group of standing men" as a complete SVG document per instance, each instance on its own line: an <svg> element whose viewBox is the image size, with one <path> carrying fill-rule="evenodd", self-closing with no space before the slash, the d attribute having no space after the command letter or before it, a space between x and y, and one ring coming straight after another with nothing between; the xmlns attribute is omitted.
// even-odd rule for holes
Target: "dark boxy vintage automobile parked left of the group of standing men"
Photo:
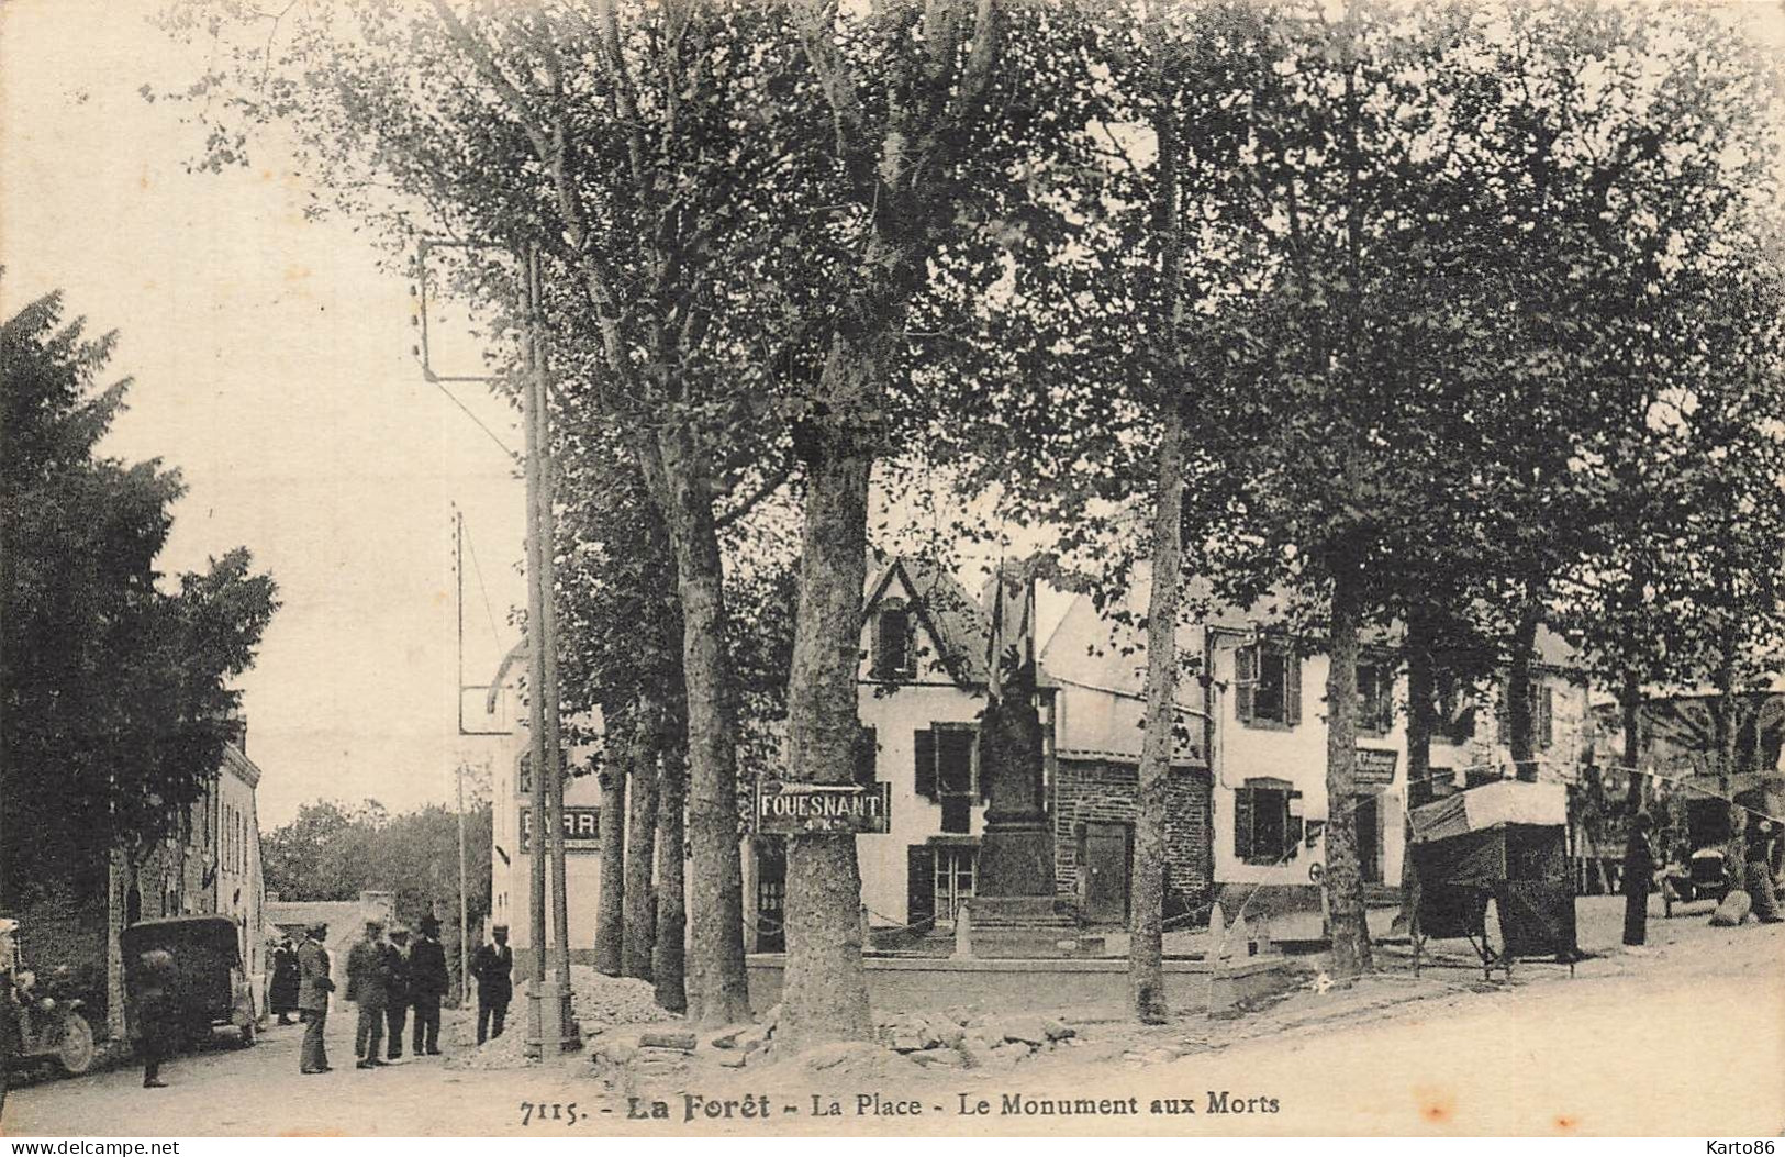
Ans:
<svg viewBox="0 0 1785 1157"><path fill-rule="evenodd" d="M136 993L143 982L143 953L173 957L171 1020L187 1045L211 1037L216 1025L232 1025L243 1048L253 1045L253 991L241 966L239 930L228 916L170 916L145 920L123 930L125 991L136 1025Z"/></svg>

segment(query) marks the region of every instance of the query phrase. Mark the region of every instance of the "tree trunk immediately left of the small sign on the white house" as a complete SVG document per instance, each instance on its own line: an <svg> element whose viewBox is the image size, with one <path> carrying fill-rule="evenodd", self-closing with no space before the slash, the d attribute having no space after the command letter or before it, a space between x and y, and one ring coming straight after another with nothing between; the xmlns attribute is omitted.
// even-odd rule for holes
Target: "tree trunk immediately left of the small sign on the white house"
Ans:
<svg viewBox="0 0 1785 1157"><path fill-rule="evenodd" d="M1364 873L1357 859L1357 566L1344 552L1333 566L1332 645L1326 670L1326 916L1332 973L1373 968Z"/></svg>

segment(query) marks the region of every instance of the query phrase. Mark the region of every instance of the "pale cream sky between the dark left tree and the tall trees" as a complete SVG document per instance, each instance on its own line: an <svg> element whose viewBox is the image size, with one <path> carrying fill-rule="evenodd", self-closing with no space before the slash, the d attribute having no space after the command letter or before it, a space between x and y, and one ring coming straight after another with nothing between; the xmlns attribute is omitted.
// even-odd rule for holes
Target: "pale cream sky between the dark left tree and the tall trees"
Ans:
<svg viewBox="0 0 1785 1157"><path fill-rule="evenodd" d="M0 312L61 289L89 332L118 330L111 371L136 384L102 452L161 457L189 487L164 571L241 545L278 582L284 607L239 684L262 828L314 798L446 800L459 757L491 743L457 736L453 504L477 554L466 678L486 682L518 641L521 486L423 382L405 282L348 223L303 220L289 161L184 170L202 141L137 89L189 82L195 64L146 12L0 5ZM521 445L505 404L457 389Z"/></svg>

